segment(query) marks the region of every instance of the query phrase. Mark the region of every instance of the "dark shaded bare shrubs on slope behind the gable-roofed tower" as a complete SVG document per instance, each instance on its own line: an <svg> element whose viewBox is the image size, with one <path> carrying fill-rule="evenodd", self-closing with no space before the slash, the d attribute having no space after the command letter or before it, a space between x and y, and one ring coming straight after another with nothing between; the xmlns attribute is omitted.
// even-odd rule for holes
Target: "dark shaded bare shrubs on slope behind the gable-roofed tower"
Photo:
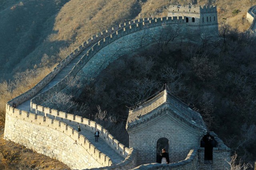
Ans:
<svg viewBox="0 0 256 170"><path fill-rule="evenodd" d="M196 44L179 37L176 45L156 43L136 55L111 63L84 87L76 102L90 110L84 117L98 121L98 106L124 129L128 108L146 100L167 84L170 92L200 112L207 127L238 154L242 162L256 158L256 37L232 29L226 39ZM96 107L97 106L97 107ZM108 121L106 119L106 121ZM118 135L116 129L109 129ZM117 137L118 138L118 137ZM128 136L119 138L128 145Z"/></svg>

